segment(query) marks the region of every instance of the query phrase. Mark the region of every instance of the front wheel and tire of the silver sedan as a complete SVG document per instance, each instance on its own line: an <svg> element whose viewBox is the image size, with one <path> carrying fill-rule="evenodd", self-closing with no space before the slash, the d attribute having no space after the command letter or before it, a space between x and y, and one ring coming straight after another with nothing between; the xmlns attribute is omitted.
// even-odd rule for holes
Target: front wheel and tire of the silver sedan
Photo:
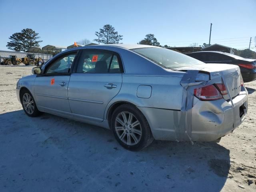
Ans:
<svg viewBox="0 0 256 192"><path fill-rule="evenodd" d="M36 102L28 90L24 90L21 94L21 103L24 112L30 117L37 117L41 112L36 107Z"/></svg>

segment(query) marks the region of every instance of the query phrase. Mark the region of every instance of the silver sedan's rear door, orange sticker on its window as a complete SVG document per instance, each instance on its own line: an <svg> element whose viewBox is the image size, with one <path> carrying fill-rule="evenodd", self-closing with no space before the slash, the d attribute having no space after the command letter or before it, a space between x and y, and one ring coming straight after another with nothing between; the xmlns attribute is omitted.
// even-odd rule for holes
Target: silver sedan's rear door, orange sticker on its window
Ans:
<svg viewBox="0 0 256 192"><path fill-rule="evenodd" d="M121 88L122 72L119 54L106 50L83 50L68 85L72 113L101 122L107 104Z"/></svg>

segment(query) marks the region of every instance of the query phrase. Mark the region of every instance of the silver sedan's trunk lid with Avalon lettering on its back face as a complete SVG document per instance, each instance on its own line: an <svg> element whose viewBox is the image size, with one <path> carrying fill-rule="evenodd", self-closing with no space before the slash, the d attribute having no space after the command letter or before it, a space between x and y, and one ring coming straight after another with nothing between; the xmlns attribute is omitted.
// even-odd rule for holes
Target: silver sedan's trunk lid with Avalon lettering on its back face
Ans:
<svg viewBox="0 0 256 192"><path fill-rule="evenodd" d="M224 75L235 72L232 76L226 77L226 82L228 85L228 89L230 91L231 97L237 96L241 91L241 75L240 75L240 68L236 65L231 64L198 64L192 66L186 66L181 68L175 68L172 70L199 70L201 73L207 72L209 75L210 80L214 78L218 78L221 76L220 72ZM197 78L198 79L198 78ZM222 82L218 82L222 83ZM224 99L228 100L228 95L223 96Z"/></svg>

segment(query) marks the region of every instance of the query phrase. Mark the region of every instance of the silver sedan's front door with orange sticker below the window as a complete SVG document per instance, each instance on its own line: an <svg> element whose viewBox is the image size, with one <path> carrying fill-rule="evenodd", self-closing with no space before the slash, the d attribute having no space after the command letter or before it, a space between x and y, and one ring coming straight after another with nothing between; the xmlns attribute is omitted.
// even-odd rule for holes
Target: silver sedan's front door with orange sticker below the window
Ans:
<svg viewBox="0 0 256 192"><path fill-rule="evenodd" d="M65 54L46 66L45 72L34 82L34 93L39 110L71 112L68 103L70 67L76 53Z"/></svg>

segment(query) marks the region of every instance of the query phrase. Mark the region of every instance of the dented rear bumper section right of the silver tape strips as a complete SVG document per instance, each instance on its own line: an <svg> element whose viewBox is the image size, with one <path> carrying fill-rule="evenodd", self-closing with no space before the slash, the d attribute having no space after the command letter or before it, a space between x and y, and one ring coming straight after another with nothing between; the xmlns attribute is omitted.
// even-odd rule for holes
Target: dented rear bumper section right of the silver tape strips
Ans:
<svg viewBox="0 0 256 192"><path fill-rule="evenodd" d="M197 98L192 110L192 141L215 141L243 121L247 113L247 92L241 91L233 98L234 107L224 99L204 102Z"/></svg>

